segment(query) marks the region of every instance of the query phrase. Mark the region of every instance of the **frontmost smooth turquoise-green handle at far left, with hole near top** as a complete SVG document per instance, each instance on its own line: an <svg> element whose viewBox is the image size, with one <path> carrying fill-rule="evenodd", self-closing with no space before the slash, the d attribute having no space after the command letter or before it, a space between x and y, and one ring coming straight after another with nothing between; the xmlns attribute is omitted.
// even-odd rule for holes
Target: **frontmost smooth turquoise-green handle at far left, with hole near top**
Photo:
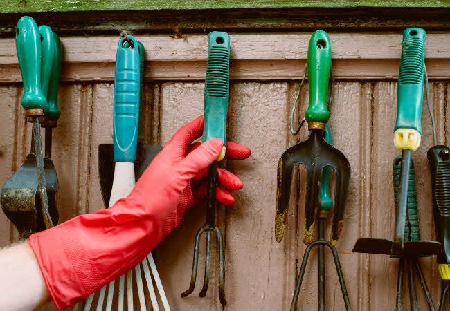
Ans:
<svg viewBox="0 0 450 311"><path fill-rule="evenodd" d="M35 20L29 16L17 22L16 50L24 82L21 104L26 111L33 109L34 116L44 115L47 101L41 88L41 39Z"/></svg>

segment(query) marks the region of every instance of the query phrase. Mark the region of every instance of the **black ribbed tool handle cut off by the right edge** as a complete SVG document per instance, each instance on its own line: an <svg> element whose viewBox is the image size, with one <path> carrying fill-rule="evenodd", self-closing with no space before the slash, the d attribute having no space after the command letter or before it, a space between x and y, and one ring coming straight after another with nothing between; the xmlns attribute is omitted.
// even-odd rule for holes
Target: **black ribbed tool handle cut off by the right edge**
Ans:
<svg viewBox="0 0 450 311"><path fill-rule="evenodd" d="M438 255L438 263L450 264L450 149L447 146L433 146L427 156L431 170L436 238L444 249ZM448 272L445 279L450 279Z"/></svg>

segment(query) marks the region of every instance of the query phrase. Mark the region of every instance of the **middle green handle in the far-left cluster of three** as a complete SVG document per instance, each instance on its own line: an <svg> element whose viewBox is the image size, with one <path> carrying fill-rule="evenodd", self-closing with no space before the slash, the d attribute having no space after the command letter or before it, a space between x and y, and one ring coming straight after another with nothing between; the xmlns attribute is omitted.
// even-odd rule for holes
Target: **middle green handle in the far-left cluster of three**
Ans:
<svg viewBox="0 0 450 311"><path fill-rule="evenodd" d="M41 90L45 97L47 97L48 82L50 80L50 73L52 70L53 57L55 55L55 39L51 28L46 25L41 25L38 28L41 36ZM47 108L46 104L46 108ZM46 110L46 109L45 109Z"/></svg>

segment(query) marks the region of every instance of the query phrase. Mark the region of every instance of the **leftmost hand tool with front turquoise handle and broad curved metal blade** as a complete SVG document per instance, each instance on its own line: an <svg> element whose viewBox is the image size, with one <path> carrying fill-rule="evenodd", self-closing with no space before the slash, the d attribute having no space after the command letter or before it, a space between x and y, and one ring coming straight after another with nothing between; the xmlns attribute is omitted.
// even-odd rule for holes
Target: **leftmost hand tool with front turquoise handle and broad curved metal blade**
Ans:
<svg viewBox="0 0 450 311"><path fill-rule="evenodd" d="M24 164L3 185L1 205L19 230L20 238L25 239L33 232L53 227L55 223L48 207L47 187L50 184L46 181L39 128L39 117L44 116L47 104L42 92L42 44L37 25L31 17L21 17L17 22L16 49L24 82L21 104L26 117L33 122L32 148ZM46 72L50 73L49 70Z"/></svg>

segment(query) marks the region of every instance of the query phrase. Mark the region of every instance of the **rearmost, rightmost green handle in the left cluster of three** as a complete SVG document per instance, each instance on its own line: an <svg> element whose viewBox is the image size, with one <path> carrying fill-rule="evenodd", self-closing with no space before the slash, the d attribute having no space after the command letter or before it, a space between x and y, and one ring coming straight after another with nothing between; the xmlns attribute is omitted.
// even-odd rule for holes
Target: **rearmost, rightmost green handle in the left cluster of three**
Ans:
<svg viewBox="0 0 450 311"><path fill-rule="evenodd" d="M53 33L53 41L55 41L55 55L53 57L53 66L51 66L50 82L48 84L48 105L44 111L46 123L51 127L56 126L56 122L61 115L60 108L57 105L57 97L61 77L62 45L60 37L55 33Z"/></svg>

